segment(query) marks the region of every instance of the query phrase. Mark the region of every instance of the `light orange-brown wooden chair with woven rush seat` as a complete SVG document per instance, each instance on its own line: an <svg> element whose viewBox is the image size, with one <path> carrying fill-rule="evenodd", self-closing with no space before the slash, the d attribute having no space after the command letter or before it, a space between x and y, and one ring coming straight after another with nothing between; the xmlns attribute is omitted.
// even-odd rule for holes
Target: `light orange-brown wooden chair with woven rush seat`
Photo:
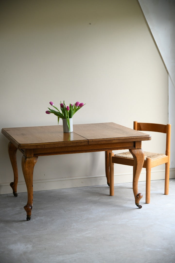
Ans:
<svg viewBox="0 0 175 263"><path fill-rule="evenodd" d="M150 184L151 184L151 168L165 163L165 195L168 195L169 190L169 164L170 164L170 137L171 124L155 124L134 122L134 130L139 131L156 131L166 133L166 151L165 154L150 153L144 151L145 160L143 168L146 168L146 204L150 203ZM125 153L110 153L112 163L125 164L134 166L134 159L130 152Z"/></svg>

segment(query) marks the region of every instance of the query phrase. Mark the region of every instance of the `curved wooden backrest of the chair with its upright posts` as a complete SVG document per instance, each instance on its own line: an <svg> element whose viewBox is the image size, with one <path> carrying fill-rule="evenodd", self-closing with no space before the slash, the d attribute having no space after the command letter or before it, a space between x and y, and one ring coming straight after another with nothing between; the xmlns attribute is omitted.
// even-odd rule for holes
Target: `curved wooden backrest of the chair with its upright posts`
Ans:
<svg viewBox="0 0 175 263"><path fill-rule="evenodd" d="M134 130L166 133L166 155L170 155L171 124L144 123L134 121Z"/></svg>

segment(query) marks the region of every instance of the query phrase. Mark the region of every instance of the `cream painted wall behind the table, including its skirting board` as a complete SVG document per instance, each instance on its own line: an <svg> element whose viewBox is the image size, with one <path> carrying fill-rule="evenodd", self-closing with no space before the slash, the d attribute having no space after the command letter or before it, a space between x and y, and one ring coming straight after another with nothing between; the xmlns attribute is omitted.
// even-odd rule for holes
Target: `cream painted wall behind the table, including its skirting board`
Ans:
<svg viewBox="0 0 175 263"><path fill-rule="evenodd" d="M1 128L56 125L45 110L60 100L86 103L74 124L168 122L168 74L136 0L7 0L0 12ZM1 134L0 142L0 193L11 193L8 140ZM143 148L151 143L164 151L153 140ZM26 191L21 157L18 192ZM115 183L125 181L132 168L116 165ZM34 190L100 184L104 152L43 156L34 168Z"/></svg>

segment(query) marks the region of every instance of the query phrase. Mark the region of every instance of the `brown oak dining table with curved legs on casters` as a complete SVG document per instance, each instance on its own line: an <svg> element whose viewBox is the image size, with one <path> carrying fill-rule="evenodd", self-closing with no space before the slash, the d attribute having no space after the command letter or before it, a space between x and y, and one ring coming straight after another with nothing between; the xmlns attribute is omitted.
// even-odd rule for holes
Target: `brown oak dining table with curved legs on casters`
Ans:
<svg viewBox="0 0 175 263"><path fill-rule="evenodd" d="M107 184L110 186L110 195L113 195L113 183L110 184L109 176L109 153L113 150L129 149L134 157L133 193L135 204L139 207L142 194L138 192L138 180L144 162L141 142L151 140L149 134L112 122L75 124L71 133L63 133L62 125L3 128L2 133L9 140L8 153L14 173L14 181L10 186L14 196L18 195L16 152L19 150L23 154L22 170L28 192L27 204L24 206L27 221L31 218L33 207L34 166L38 156L44 155L105 151L105 174Z"/></svg>

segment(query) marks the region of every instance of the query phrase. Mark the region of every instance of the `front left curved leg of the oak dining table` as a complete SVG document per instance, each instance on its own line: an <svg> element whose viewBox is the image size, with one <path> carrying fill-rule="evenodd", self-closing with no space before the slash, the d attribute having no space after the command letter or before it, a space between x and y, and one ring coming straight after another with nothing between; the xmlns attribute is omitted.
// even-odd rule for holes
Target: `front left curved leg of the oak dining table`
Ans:
<svg viewBox="0 0 175 263"><path fill-rule="evenodd" d="M33 206L33 169L38 161L38 157L22 157L22 170L27 187L28 200L27 204L24 206L24 209L27 213L27 221L31 217L31 209Z"/></svg>

